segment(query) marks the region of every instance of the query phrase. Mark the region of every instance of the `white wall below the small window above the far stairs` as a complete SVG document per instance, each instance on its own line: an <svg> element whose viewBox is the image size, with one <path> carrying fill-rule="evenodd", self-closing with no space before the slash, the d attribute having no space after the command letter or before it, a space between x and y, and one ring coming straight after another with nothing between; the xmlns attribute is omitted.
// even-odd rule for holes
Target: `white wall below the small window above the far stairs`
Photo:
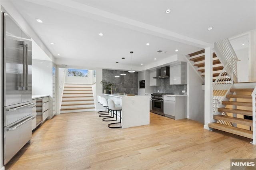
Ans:
<svg viewBox="0 0 256 170"><path fill-rule="evenodd" d="M93 70L88 70L88 77L76 77L76 76L67 76L65 83L71 84L92 84L93 83Z"/></svg>

